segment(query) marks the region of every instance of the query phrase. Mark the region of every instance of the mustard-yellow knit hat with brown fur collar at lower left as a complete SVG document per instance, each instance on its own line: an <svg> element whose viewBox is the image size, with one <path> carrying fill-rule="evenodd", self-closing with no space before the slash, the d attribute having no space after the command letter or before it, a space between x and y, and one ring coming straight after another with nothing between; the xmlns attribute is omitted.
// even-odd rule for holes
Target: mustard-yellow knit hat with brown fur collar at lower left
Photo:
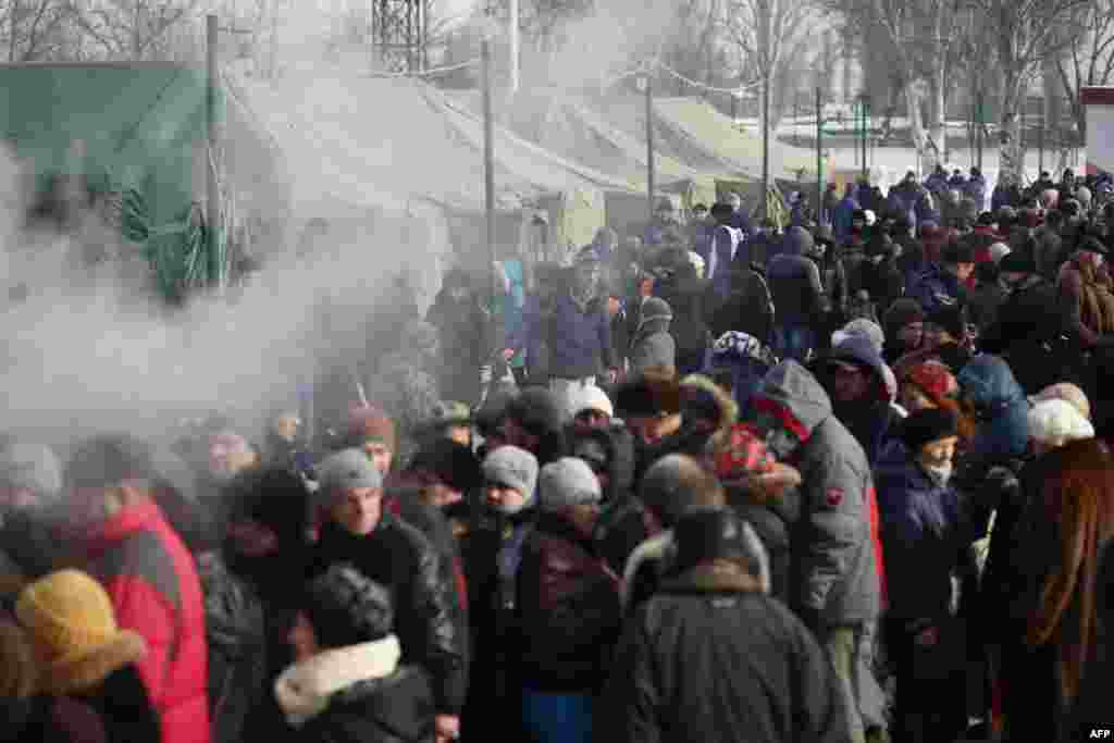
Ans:
<svg viewBox="0 0 1114 743"><path fill-rule="evenodd" d="M80 570L59 570L29 585L16 616L46 659L45 693L90 690L147 653L140 635L117 626L108 593Z"/></svg>

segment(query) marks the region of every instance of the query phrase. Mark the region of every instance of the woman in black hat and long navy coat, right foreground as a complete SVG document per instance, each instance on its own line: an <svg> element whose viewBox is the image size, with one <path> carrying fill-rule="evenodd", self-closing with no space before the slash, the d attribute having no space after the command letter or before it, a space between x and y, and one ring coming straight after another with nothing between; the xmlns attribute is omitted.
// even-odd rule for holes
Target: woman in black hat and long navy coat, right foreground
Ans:
<svg viewBox="0 0 1114 743"><path fill-rule="evenodd" d="M990 508L949 487L956 417L926 408L901 423L903 457L877 469L889 586L885 636L897 665L902 740L950 741L967 729L966 648L952 576L986 535Z"/></svg>

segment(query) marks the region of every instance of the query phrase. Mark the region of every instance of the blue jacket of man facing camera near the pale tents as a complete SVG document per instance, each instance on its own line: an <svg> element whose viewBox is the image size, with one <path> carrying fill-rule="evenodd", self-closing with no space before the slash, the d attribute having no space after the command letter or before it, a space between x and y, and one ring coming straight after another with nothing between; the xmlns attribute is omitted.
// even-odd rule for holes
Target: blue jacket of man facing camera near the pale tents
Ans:
<svg viewBox="0 0 1114 743"><path fill-rule="evenodd" d="M607 319L607 307L593 300L582 309L566 292L559 295L553 315L545 317L535 310L529 334L531 351L529 359L540 356L540 344L548 342L550 377L583 379L617 368L612 349L612 329Z"/></svg>

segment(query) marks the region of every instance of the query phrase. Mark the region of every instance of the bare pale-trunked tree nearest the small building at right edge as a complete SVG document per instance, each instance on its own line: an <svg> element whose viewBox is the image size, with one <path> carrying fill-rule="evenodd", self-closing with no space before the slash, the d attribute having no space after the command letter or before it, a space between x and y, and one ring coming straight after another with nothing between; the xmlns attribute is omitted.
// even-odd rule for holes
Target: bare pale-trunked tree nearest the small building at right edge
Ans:
<svg viewBox="0 0 1114 743"><path fill-rule="evenodd" d="M969 0L987 21L988 38L1000 68L999 183L1020 184L1025 176L1022 114L1025 92L1048 55L1076 42L1078 16L1094 0Z"/></svg>

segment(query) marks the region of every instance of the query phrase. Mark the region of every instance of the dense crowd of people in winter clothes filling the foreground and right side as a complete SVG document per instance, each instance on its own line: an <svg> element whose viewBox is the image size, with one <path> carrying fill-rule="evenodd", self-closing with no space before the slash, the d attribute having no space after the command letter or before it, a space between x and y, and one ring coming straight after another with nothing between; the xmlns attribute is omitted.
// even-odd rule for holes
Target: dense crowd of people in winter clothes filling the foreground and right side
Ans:
<svg viewBox="0 0 1114 743"><path fill-rule="evenodd" d="M1110 195L664 202L392 299L262 432L9 431L0 741L1110 727Z"/></svg>

